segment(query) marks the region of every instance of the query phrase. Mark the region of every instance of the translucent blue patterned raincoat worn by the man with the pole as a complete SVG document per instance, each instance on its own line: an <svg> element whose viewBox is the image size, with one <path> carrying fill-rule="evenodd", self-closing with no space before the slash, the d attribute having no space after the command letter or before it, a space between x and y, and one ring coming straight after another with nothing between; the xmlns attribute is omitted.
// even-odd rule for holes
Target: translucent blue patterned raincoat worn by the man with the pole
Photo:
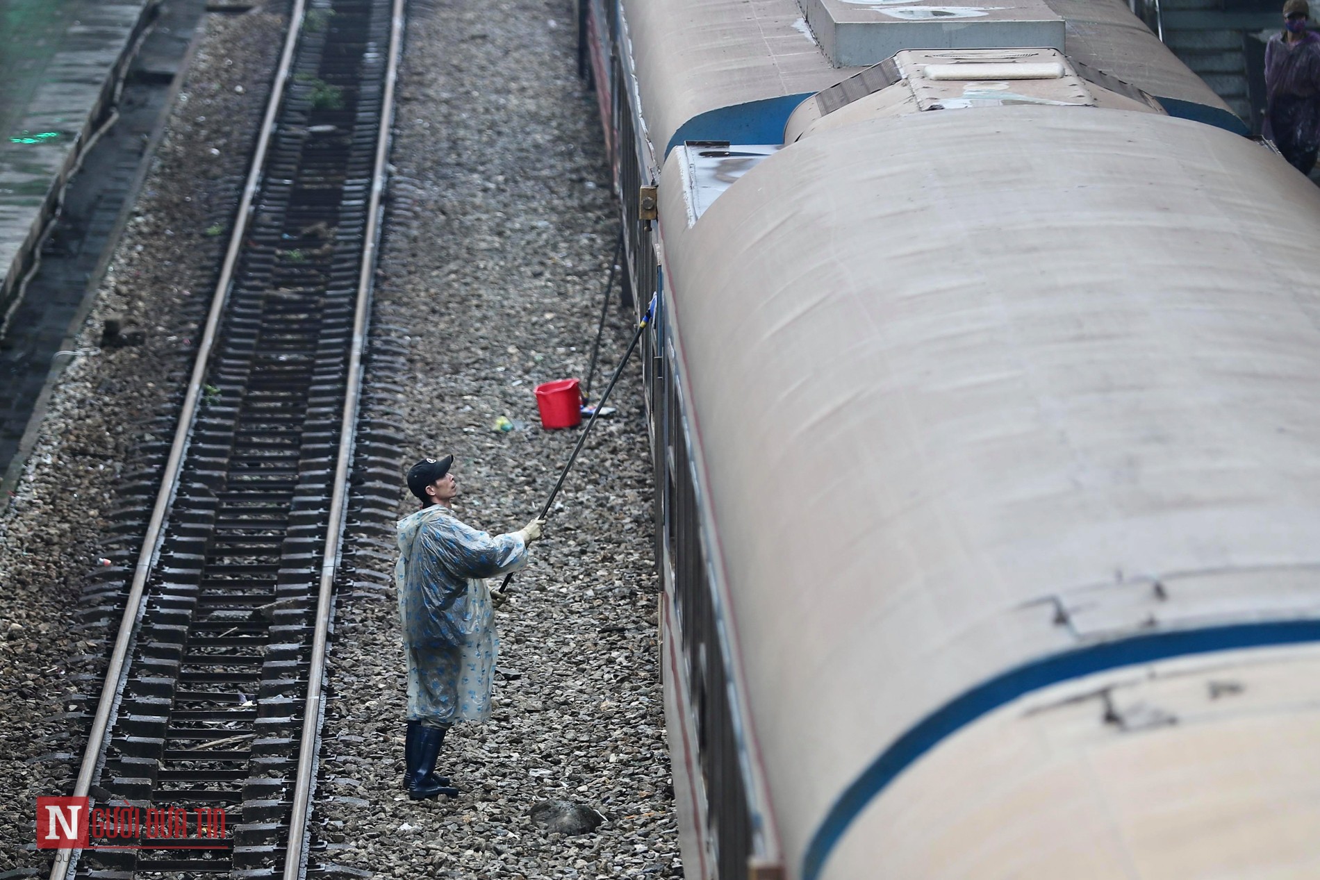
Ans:
<svg viewBox="0 0 1320 880"><path fill-rule="evenodd" d="M491 537L432 504L399 521L395 587L408 658L408 720L490 718L499 636L483 578L527 565L521 536Z"/></svg>

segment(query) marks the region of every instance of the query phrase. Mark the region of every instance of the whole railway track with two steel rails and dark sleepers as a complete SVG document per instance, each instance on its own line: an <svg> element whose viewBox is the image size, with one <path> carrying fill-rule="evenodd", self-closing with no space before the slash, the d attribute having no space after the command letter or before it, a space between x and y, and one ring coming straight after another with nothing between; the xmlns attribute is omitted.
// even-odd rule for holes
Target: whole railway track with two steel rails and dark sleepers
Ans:
<svg viewBox="0 0 1320 880"><path fill-rule="evenodd" d="M308 871L403 0L289 21L53 880Z"/></svg>

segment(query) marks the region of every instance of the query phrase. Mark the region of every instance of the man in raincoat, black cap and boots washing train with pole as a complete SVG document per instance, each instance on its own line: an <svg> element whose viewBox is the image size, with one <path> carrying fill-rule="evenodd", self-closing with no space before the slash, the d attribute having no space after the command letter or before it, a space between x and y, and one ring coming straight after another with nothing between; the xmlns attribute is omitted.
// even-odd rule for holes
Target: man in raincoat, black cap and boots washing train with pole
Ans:
<svg viewBox="0 0 1320 880"><path fill-rule="evenodd" d="M413 464L408 489L422 507L397 525L395 586L408 658L404 789L414 801L458 794L434 774L436 757L450 726L490 718L499 637L484 578L525 566L545 522L496 537L463 525L450 509L453 463L446 455Z"/></svg>

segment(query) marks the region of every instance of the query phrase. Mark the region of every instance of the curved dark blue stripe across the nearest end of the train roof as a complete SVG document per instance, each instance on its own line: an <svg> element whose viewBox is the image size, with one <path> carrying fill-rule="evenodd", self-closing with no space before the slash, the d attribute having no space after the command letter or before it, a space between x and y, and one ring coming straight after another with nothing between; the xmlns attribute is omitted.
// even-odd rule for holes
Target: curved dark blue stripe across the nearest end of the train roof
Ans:
<svg viewBox="0 0 1320 880"><path fill-rule="evenodd" d="M1320 620L1237 624L1135 636L1038 660L974 687L936 710L880 752L821 821L803 856L803 880L817 880L862 810L904 769L945 738L1034 690L1092 673L1156 660L1241 648L1320 641Z"/></svg>

